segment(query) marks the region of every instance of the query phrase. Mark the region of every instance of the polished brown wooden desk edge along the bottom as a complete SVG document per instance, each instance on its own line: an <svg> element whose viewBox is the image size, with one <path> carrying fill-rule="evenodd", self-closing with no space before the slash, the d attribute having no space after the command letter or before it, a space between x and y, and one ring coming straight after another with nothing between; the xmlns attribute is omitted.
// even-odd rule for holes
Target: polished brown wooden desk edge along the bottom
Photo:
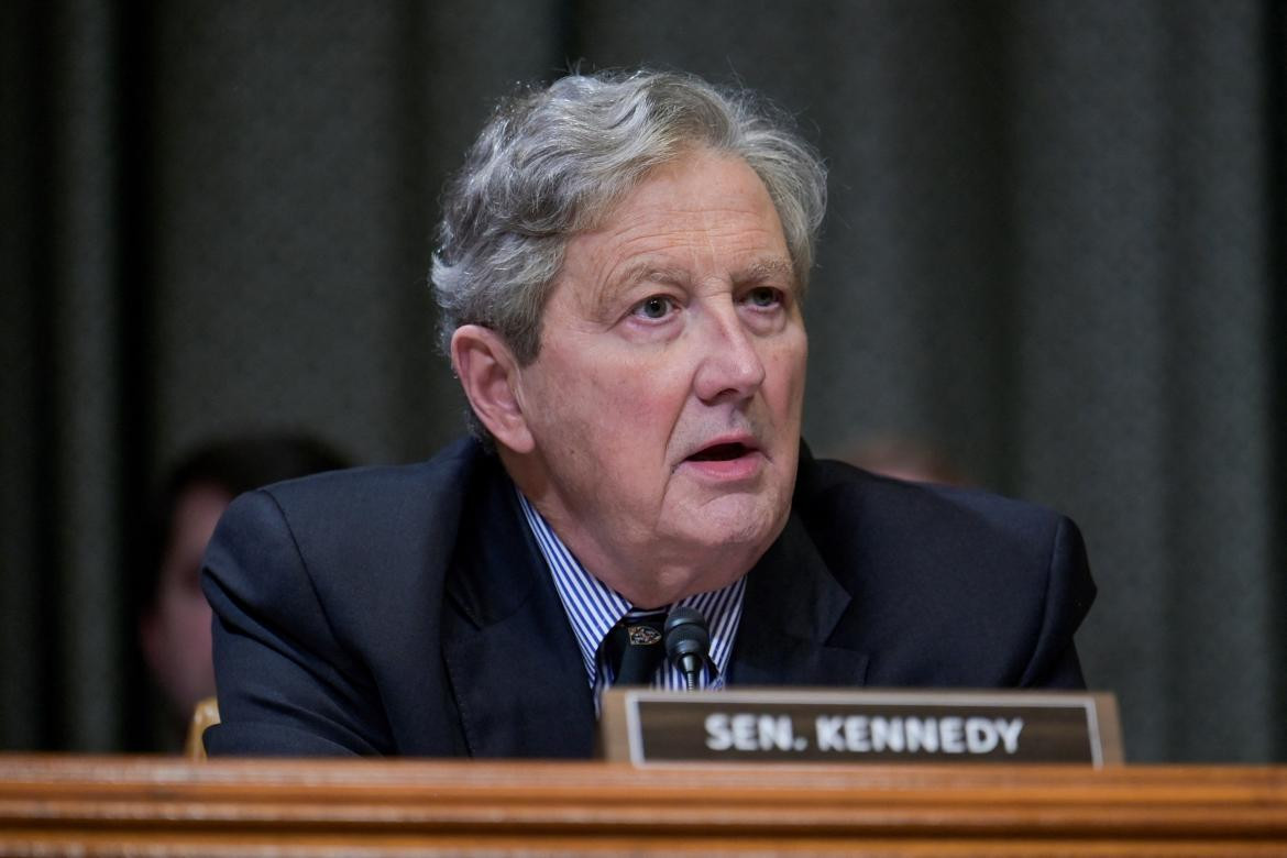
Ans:
<svg viewBox="0 0 1287 858"><path fill-rule="evenodd" d="M1287 855L1287 768L0 755L0 854Z"/></svg>

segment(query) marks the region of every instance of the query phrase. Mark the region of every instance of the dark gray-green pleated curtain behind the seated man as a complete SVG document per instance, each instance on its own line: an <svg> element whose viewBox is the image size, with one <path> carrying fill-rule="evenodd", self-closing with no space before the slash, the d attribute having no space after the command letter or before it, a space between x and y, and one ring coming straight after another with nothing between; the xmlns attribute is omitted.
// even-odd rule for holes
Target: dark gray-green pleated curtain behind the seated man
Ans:
<svg viewBox="0 0 1287 858"><path fill-rule="evenodd" d="M0 747L138 740L125 581L181 450L459 432L438 192L579 62L795 112L815 449L919 439L1066 511L1130 759L1284 759L1284 44L1272 0L4 4Z"/></svg>

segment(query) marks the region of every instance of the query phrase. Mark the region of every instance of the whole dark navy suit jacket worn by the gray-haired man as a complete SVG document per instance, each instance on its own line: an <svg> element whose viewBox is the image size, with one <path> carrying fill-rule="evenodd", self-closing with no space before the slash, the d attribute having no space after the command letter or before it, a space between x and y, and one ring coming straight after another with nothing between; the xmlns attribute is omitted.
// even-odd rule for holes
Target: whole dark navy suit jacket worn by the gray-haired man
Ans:
<svg viewBox="0 0 1287 858"><path fill-rule="evenodd" d="M206 554L211 754L588 756L580 651L514 489L472 441L238 498ZM1076 526L802 453L749 572L730 684L1081 687Z"/></svg>

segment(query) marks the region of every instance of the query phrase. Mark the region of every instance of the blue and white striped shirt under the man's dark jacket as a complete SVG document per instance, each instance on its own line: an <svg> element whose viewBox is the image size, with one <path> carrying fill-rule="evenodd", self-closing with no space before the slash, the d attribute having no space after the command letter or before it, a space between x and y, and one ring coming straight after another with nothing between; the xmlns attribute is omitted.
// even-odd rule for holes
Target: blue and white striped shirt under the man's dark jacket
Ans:
<svg viewBox="0 0 1287 858"><path fill-rule="evenodd" d="M528 502L521 491L517 494L528 526L532 527L541 553L546 558L546 565L550 567L559 599L562 602L568 621L577 635L577 643L580 644L580 657L586 662L586 678L595 691L595 710L598 711L598 701L604 688L611 686L614 679L610 675L611 665L600 656L600 644L611 628L634 608L625 597L587 572L535 507ZM703 671L699 686L701 688L723 688L728 653L732 651L732 642L737 637L737 624L741 621L741 599L745 592L746 578L743 576L718 590L685 596L669 606L696 608L707 619L710 628L710 661L714 662L714 668L713 673L710 668ZM658 670L658 675L653 679L653 687L680 691L687 684L677 668L667 665Z"/></svg>

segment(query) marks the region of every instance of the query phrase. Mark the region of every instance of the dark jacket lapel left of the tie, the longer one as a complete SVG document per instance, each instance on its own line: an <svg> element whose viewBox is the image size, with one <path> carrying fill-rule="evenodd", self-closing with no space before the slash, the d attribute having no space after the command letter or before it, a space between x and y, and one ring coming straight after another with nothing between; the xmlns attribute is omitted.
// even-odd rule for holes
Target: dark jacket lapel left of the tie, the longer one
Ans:
<svg viewBox="0 0 1287 858"><path fill-rule="evenodd" d="M580 650L494 461L474 481L448 580L443 655L472 756L589 756Z"/></svg>

